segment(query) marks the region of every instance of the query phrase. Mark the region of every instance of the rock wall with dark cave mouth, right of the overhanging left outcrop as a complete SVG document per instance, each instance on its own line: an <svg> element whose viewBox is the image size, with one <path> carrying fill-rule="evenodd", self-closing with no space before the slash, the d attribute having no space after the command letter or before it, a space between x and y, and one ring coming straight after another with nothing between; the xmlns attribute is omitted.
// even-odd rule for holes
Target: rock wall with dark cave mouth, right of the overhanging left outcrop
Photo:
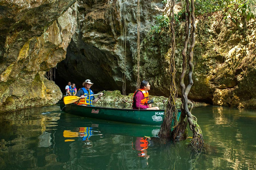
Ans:
<svg viewBox="0 0 256 170"><path fill-rule="evenodd" d="M150 94L168 97L171 36L165 32L151 32L155 16L162 14L164 6L161 1L140 2L140 80L149 80ZM71 81L81 87L85 79L91 79L95 82L92 87L95 91L122 91L125 75L126 94L134 92L137 4L132 1L78 1L78 11L77 32L67 49L66 59L57 66L57 77L63 80L59 86L64 88L67 81ZM246 27L244 22L236 25L229 18L221 20L220 16L221 13L215 13L196 22L194 85L189 99L221 106L254 107L256 98L251 93L255 89L254 21ZM175 25L176 88L180 95L178 79L182 71L185 22L180 20Z"/></svg>

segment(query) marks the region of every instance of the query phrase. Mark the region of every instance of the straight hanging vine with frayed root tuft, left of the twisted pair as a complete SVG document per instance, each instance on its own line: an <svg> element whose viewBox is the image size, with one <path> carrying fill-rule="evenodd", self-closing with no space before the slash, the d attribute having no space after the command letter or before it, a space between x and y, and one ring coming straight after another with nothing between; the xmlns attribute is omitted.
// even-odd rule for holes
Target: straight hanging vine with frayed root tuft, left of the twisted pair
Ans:
<svg viewBox="0 0 256 170"><path fill-rule="evenodd" d="M171 32L171 57L170 57L170 64L169 64L169 74L170 74L170 96L168 98L167 107L165 109L165 118L163 119L163 122L161 124L160 132L158 133L158 136L161 138L168 138L171 135L171 127L176 126L178 124L178 110L176 109L175 101L177 98L177 89L176 89L176 83L175 83L175 31L174 31L174 0L168 0L167 2L169 4L169 7L171 9L171 12L169 14L169 20L170 20L170 27L169 31Z"/></svg>

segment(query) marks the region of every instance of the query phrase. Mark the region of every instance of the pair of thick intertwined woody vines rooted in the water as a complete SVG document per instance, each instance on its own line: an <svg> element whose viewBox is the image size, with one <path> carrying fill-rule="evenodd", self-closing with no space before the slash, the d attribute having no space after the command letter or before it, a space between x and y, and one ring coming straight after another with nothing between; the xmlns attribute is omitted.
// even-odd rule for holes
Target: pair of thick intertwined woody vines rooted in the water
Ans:
<svg viewBox="0 0 256 170"><path fill-rule="evenodd" d="M193 132L193 138L191 139L190 145L195 150L200 150L202 146L204 145L204 139L202 135L202 131L200 129L200 126L197 124L197 118L191 114L191 110L193 108L193 103L188 100L188 93L193 85L192 80L192 74L194 70L193 65L193 50L195 47L195 33L196 33L196 26L195 26L195 5L194 0L191 0L191 12L189 9L189 0L186 0L187 3L187 35L184 41L184 48L182 50L182 74L180 76L180 88L182 92L182 115L181 115L181 121L178 124L178 126L175 128L173 133L173 139L175 140L181 140L186 139L186 126L187 123L189 123L189 128ZM191 33L191 18L192 18L192 33ZM190 34L191 33L191 34ZM188 71L188 84L187 86L184 83L184 78L187 73L187 44L189 43L189 37L191 36L191 45L189 48L189 57L188 57L188 64L189 64L189 71ZM188 105L191 107L188 108Z"/></svg>

